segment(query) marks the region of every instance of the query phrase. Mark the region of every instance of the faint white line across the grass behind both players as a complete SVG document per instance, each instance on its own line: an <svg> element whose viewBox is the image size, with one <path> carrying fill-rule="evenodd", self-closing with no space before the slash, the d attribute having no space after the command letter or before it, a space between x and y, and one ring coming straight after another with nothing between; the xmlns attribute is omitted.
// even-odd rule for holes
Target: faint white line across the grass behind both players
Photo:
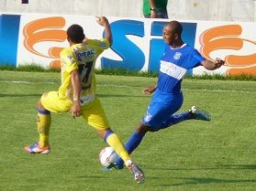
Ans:
<svg viewBox="0 0 256 191"><path fill-rule="evenodd" d="M17 83L17 84L60 84L52 81L44 81L44 82L31 82L31 81L7 81L7 80L0 80L0 83ZM98 87L112 87L112 88L135 88L134 86L127 86L127 85L111 85L111 84L97 84ZM256 91L249 91L249 90L209 90L209 89L182 89L182 90L202 90L202 91L209 91L209 92L240 92L240 93L256 93Z"/></svg>

